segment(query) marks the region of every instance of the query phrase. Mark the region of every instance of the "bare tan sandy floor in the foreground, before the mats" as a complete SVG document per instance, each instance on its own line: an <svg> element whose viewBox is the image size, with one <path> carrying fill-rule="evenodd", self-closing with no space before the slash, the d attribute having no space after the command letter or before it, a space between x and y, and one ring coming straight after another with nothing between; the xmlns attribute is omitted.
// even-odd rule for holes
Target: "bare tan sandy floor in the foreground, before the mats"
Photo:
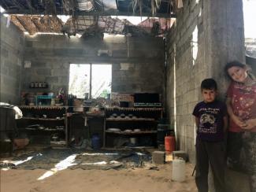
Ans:
<svg viewBox="0 0 256 192"><path fill-rule="evenodd" d="M69 191L172 191L193 192L193 165L186 165L186 181L171 181L171 164L159 165L159 171L147 168L121 170L66 169L43 180L37 180L46 170L1 171L1 192L69 192Z"/></svg>

